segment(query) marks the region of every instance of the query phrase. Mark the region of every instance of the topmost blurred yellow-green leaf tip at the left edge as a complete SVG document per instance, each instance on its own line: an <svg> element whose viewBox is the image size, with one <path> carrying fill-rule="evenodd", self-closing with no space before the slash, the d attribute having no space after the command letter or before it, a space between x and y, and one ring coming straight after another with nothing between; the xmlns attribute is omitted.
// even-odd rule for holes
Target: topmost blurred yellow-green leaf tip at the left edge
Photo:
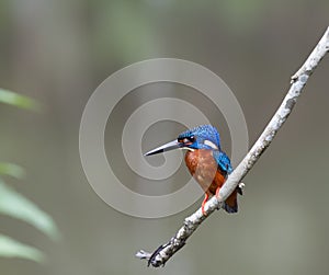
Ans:
<svg viewBox="0 0 329 275"><path fill-rule="evenodd" d="M4 89L0 89L0 102L21 108L41 110L41 105L35 100Z"/></svg>

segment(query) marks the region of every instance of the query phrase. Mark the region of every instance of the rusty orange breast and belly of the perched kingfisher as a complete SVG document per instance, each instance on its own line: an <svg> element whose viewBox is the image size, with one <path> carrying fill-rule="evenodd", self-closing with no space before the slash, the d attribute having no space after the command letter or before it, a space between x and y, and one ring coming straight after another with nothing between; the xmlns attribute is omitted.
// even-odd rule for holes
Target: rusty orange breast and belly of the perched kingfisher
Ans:
<svg viewBox="0 0 329 275"><path fill-rule="evenodd" d="M224 184L225 176L218 171L213 152L211 150L188 151L185 162L203 191L208 195L215 195L217 187Z"/></svg>

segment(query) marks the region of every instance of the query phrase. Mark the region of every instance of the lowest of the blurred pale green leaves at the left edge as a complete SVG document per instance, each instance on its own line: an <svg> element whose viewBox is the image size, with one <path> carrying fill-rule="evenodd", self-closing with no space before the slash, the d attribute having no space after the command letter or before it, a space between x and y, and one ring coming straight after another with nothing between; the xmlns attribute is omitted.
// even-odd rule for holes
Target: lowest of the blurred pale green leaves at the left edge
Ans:
<svg viewBox="0 0 329 275"><path fill-rule="evenodd" d="M39 250L18 242L3 234L0 234L0 256L22 257L38 263L45 261L45 255Z"/></svg>

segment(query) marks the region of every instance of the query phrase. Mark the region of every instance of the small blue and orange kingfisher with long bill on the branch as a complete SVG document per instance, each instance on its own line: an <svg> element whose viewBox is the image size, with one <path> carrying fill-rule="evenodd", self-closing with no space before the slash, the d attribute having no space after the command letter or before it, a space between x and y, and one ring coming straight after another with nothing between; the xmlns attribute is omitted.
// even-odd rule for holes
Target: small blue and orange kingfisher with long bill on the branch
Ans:
<svg viewBox="0 0 329 275"><path fill-rule="evenodd" d="M220 148L218 130L212 125L201 125L180 134L171 142L162 145L144 156L151 156L173 149L186 149L185 163L192 176L205 192L202 202L202 214L205 214L204 206L211 196L219 196L219 190L225 183L232 167L228 156ZM238 211L237 196L242 194L237 187L223 204L227 213Z"/></svg>

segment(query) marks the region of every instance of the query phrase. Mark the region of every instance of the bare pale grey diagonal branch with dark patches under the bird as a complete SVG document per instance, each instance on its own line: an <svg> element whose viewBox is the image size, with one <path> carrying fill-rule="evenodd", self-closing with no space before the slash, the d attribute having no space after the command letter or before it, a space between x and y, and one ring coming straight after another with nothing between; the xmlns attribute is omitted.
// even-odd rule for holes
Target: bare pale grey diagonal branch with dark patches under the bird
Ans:
<svg viewBox="0 0 329 275"><path fill-rule="evenodd" d="M219 198L214 196L205 205L206 216L202 215L201 208L190 217L185 218L184 225L179 229L171 240L160 245L154 253L148 253L143 250L136 253L139 259L148 261L148 266L159 267L182 247L184 247L189 237L197 229L197 227L215 210L220 208L223 202L236 190L241 180L250 171L253 164L259 160L260 156L270 146L274 136L285 123L286 118L291 114L298 96L302 94L303 88L306 84L309 76L314 72L320 60L329 51L329 27L325 32L322 38L314 48L307 60L300 67L300 69L292 77L291 88L285 95L283 102L277 108L276 113L265 127L262 135L256 141L253 147L247 153L245 159L235 169L235 171L228 176L227 181L223 185L219 192Z"/></svg>

